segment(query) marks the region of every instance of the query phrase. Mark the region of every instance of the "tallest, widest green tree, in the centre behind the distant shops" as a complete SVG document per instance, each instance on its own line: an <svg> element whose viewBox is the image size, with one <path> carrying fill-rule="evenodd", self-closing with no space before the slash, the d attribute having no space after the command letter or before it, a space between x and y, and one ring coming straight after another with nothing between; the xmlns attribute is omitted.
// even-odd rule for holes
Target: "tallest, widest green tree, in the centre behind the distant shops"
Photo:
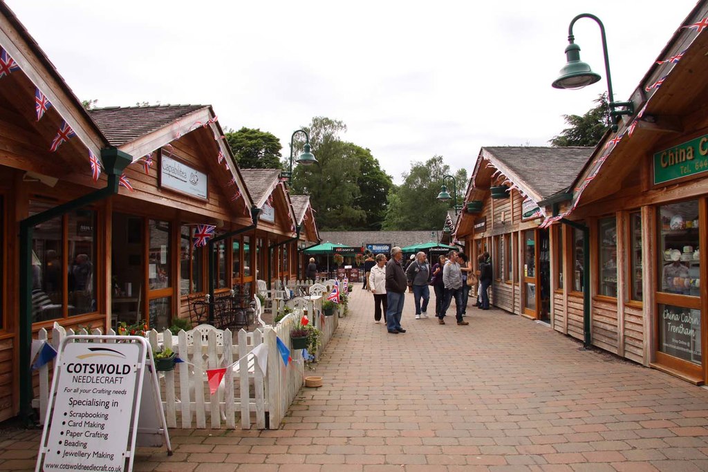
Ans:
<svg viewBox="0 0 708 472"><path fill-rule="evenodd" d="M319 165L293 168L292 193L310 196L320 229L380 229L392 179L379 161L369 149L340 138L346 125L339 120L314 117L303 129ZM294 156L304 144L302 134L296 137Z"/></svg>

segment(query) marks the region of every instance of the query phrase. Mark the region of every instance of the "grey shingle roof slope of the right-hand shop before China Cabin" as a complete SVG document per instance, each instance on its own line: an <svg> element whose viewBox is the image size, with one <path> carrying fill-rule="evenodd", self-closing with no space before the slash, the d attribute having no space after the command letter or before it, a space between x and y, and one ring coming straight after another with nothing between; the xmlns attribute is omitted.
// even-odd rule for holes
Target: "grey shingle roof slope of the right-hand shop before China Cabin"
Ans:
<svg viewBox="0 0 708 472"><path fill-rule="evenodd" d="M528 187L547 198L573 184L594 147L486 147Z"/></svg>

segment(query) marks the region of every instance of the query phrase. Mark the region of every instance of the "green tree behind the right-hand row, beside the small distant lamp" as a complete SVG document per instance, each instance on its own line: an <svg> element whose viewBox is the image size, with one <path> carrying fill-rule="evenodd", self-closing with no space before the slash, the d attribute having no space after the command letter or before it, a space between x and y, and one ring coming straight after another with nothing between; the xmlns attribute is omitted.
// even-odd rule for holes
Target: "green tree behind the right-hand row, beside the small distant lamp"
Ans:
<svg viewBox="0 0 708 472"><path fill-rule="evenodd" d="M389 205L382 225L384 230L413 231L422 229L442 229L445 214L452 208L452 202L441 202L438 193L442 178L453 175L457 204L462 205L464 190L467 188L467 171L459 169L452 174L450 166L442 162L442 156L433 156L426 162L411 163L411 170L404 173L404 183L389 191ZM452 193L449 179L447 191Z"/></svg>

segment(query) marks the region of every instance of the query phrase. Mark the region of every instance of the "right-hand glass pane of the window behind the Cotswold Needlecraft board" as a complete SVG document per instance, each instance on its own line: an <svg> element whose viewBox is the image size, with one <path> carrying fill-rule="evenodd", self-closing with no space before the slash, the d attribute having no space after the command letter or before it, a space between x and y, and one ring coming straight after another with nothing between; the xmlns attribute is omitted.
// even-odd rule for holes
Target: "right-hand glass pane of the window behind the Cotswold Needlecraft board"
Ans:
<svg viewBox="0 0 708 472"><path fill-rule="evenodd" d="M96 212L69 213L69 316L93 313L96 306Z"/></svg>

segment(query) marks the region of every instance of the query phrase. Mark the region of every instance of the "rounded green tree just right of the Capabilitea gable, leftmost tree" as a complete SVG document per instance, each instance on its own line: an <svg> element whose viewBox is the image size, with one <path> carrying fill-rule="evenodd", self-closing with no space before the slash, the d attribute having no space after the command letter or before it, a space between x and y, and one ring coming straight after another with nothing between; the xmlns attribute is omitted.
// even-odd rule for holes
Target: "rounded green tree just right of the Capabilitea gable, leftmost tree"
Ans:
<svg viewBox="0 0 708 472"><path fill-rule="evenodd" d="M238 131L227 129L224 133L239 167L244 169L280 169L280 140L275 135L242 127Z"/></svg>

